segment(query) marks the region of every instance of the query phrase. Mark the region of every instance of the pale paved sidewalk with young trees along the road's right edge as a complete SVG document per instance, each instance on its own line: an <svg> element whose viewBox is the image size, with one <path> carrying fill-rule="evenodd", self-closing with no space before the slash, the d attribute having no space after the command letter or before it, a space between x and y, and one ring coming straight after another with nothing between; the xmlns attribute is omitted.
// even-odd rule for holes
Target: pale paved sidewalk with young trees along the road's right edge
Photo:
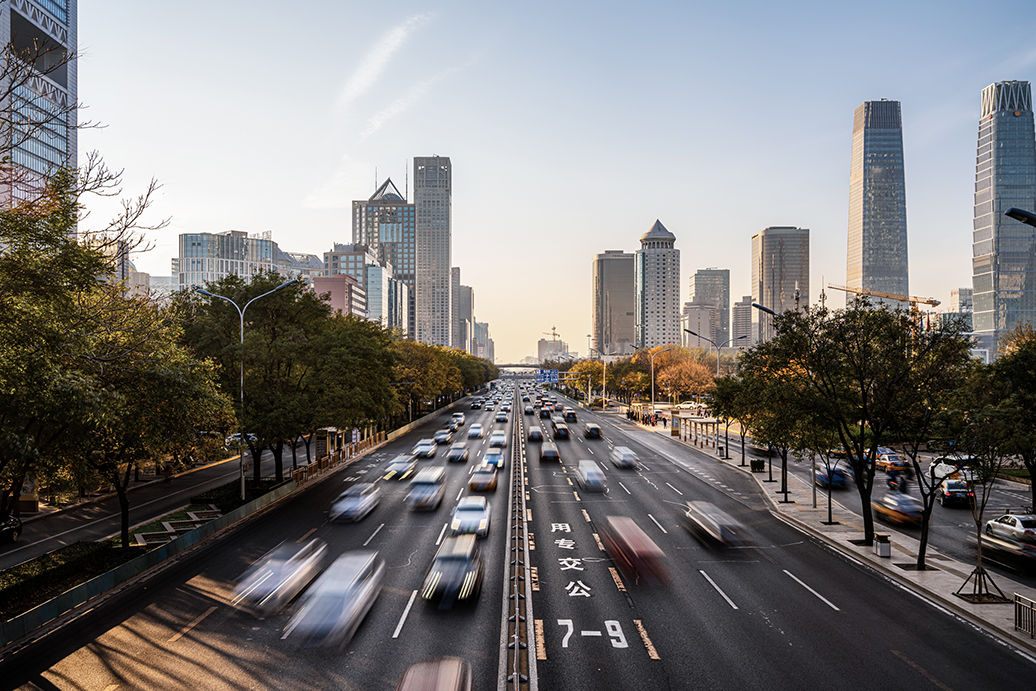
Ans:
<svg viewBox="0 0 1036 691"><path fill-rule="evenodd" d="M622 413L618 413L622 414ZM622 415L625 420L625 415ZM782 503L779 499L782 493L774 490L779 483L765 483L767 473L751 472L747 466L741 466L741 455L731 455L730 460L718 458L715 450L701 449L673 437L668 429L637 425L637 427L658 432L668 439L715 459L721 463L742 470L755 479L756 484L770 502L772 511L781 519L793 523L796 527L823 540L842 554L858 563L867 565L900 585L930 600L936 605L959 615L960 617L981 627L982 629L1003 638L1019 649L1036 654L1036 639L1030 638L1023 631L1014 629L1014 605L1011 604L972 604L954 595L975 568L974 564L965 564L940 554L929 545L925 555L926 571L916 571L919 541L911 536L899 532L894 527L884 523L874 524L874 531L890 536L891 557L881 557L874 553L873 547L856 545L852 540L863 538L863 517L832 501L832 519L834 524L826 525L828 520L827 501L817 497L816 509L812 508L811 487L788 473L788 496L794 503ZM826 497L825 497L826 499ZM1002 575L996 576L996 583L1008 598L1014 594L1036 600L1036 588L1029 587ZM969 585L970 588L970 585ZM966 588L967 592L967 588Z"/></svg>

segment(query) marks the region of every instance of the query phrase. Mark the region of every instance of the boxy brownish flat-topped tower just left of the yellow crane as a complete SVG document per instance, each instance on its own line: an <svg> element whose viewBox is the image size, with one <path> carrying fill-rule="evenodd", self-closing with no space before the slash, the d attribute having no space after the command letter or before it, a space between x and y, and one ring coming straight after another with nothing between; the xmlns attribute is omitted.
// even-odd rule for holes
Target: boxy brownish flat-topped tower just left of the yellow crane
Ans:
<svg viewBox="0 0 1036 691"><path fill-rule="evenodd" d="M809 306L808 228L771 226L752 235L752 299L777 314ZM752 341L772 338L772 318L755 310Z"/></svg>

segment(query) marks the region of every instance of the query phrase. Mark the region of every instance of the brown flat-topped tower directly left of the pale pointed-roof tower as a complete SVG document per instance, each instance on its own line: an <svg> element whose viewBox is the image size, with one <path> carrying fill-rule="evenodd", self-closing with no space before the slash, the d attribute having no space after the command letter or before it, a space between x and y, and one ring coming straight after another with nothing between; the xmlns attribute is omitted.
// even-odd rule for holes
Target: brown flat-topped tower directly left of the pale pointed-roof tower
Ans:
<svg viewBox="0 0 1036 691"><path fill-rule="evenodd" d="M607 355L632 352L633 265L636 255L607 250L594 257L594 348Z"/></svg>

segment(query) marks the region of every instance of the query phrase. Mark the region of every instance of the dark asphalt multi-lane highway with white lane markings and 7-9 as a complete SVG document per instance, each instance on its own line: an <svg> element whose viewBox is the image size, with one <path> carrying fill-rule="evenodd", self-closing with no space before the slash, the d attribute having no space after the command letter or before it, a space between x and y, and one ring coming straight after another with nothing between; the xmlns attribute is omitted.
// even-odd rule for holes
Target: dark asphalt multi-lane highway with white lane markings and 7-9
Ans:
<svg viewBox="0 0 1036 691"><path fill-rule="evenodd" d="M506 688L508 488L490 495L492 524L481 541L485 579L478 603L439 611L420 588L450 510L468 494L467 478L485 456L489 431L514 426L509 450L525 463L535 636L527 683L519 688L602 689L1029 689L1036 660L911 594L777 519L754 482L615 415L579 411L559 440L562 463L541 463L525 442L549 421L522 413L520 394L506 424L466 410L487 433L467 439L467 463L444 450L422 466L445 467L442 506L416 513L403 503L407 482L381 479L387 461L431 436L449 415L368 454L304 489L214 546L184 559L146 587L127 591L45 638L0 668L13 688L393 689L410 663L434 656L467 659L478 689ZM585 439L598 422L603 439ZM519 439L520 441L515 441ZM638 469L607 461L612 445L633 449ZM522 454L522 452L525 452ZM608 492L575 482L578 460L596 460ZM510 468L509 468L510 470ZM345 487L377 479L381 501L354 524L327 522ZM752 546L716 551L682 527L687 500L711 501L745 524ZM600 546L607 516L632 518L666 554L670 582L637 583ZM308 650L285 637L291 609L256 618L231 606L235 578L282 541L319 538L333 554L374 549L385 560L380 597L344 650Z"/></svg>

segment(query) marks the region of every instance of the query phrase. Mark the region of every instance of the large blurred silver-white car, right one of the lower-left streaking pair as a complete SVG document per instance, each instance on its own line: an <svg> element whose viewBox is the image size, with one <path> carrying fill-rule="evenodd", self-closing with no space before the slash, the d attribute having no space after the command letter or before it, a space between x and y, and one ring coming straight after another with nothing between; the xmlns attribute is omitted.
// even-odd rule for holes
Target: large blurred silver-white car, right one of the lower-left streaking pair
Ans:
<svg viewBox="0 0 1036 691"><path fill-rule="evenodd" d="M344 552L303 597L285 629L309 645L345 645L381 593L385 564L371 550Z"/></svg>

